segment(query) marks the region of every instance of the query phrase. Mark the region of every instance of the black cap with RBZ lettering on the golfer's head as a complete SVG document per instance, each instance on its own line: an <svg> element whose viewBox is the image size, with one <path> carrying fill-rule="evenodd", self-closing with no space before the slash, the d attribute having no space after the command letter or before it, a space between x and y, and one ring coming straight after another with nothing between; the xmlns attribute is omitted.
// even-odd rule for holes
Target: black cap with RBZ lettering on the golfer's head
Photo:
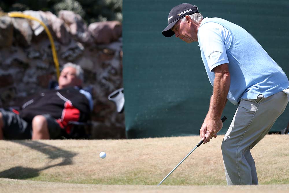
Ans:
<svg viewBox="0 0 289 193"><path fill-rule="evenodd" d="M182 3L175 6L168 14L168 26L162 31L162 34L166 37L171 37L175 34L171 28L186 15L199 13L198 8L190 3Z"/></svg>

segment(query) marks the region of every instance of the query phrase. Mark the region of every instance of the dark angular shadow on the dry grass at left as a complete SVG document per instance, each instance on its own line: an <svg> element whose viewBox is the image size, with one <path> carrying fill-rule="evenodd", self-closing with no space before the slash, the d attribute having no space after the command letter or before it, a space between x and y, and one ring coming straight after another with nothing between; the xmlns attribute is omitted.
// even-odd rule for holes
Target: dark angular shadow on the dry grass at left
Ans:
<svg viewBox="0 0 289 193"><path fill-rule="evenodd" d="M45 155L49 156L49 159L59 159L62 158L62 162L58 164L48 165L42 168L25 168L22 166L16 166L10 168L8 170L4 170L0 172L1 178L10 178L10 179L28 179L34 178L39 176L39 172L42 170L46 170L48 168L52 168L55 166L66 166L73 164L73 157L77 155L77 153L66 151L60 149L58 147L44 144L38 141L32 140L13 140L11 142L18 143L24 146L27 146L31 149L44 153ZM33 164L33 163L31 163Z"/></svg>

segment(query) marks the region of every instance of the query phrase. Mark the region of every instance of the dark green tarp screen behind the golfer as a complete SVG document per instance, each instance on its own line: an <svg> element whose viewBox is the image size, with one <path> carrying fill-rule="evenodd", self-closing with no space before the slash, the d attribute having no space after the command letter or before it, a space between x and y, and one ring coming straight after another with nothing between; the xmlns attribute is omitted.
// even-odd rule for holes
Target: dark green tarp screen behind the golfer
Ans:
<svg viewBox="0 0 289 193"><path fill-rule="evenodd" d="M123 0L123 81L128 138L198 135L212 86L198 42L165 38L168 13L175 5L197 5L204 17L220 17L246 29L289 75L288 0ZM237 106L229 101L228 120ZM271 131L284 129L289 107Z"/></svg>

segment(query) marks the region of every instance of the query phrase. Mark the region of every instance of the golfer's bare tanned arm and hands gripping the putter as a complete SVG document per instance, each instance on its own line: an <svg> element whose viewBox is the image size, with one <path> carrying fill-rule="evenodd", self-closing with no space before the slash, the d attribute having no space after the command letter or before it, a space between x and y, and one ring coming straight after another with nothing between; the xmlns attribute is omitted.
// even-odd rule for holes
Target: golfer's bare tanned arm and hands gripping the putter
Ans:
<svg viewBox="0 0 289 193"><path fill-rule="evenodd" d="M204 143L217 136L217 132L223 127L221 115L227 102L227 95L230 88L230 73L228 63L221 64L214 68L215 79L213 95L210 100L210 107L204 123L200 129L200 137Z"/></svg>

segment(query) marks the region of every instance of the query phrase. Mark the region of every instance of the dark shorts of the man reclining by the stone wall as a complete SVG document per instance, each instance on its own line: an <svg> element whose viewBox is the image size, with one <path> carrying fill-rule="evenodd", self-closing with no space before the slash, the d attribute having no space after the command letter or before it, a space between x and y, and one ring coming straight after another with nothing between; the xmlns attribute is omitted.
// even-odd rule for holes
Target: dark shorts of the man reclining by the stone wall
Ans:
<svg viewBox="0 0 289 193"><path fill-rule="evenodd" d="M18 114L0 109L3 116L3 136L8 140L21 140L32 138L32 123L23 120ZM60 125L49 114L43 114L47 120L48 131L51 139L60 139L62 132Z"/></svg>

